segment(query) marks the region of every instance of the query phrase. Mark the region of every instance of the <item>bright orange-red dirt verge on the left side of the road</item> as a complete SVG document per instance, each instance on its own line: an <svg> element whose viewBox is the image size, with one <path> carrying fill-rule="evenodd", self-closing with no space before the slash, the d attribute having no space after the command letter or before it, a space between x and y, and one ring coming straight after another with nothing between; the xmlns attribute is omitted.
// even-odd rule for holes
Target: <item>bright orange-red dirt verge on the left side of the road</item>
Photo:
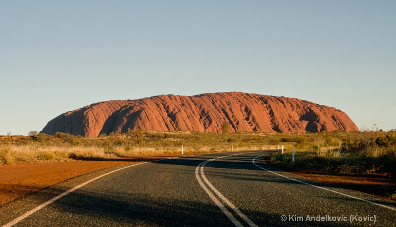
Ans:
<svg viewBox="0 0 396 227"><path fill-rule="evenodd" d="M0 206L50 185L112 166L147 162L173 156L145 155L106 161L68 161L0 165Z"/></svg>

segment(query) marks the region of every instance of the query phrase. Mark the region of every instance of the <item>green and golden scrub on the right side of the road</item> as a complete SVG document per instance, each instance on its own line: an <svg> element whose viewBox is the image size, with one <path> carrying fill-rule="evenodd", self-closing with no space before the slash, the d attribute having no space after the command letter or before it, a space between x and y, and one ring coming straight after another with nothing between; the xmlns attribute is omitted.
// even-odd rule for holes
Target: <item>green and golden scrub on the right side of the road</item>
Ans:
<svg viewBox="0 0 396 227"><path fill-rule="evenodd" d="M321 133L291 136L292 151L275 153L272 162L289 170L328 173L380 173L396 176L396 132Z"/></svg>

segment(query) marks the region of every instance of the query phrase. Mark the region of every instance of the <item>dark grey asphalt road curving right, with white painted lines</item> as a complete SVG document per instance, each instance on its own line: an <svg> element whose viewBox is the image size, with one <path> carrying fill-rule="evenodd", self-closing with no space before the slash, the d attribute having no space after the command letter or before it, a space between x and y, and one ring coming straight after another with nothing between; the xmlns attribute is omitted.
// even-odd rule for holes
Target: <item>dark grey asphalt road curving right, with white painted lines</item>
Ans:
<svg viewBox="0 0 396 227"><path fill-rule="evenodd" d="M395 202L282 172L269 152L112 167L0 207L0 225L396 226Z"/></svg>

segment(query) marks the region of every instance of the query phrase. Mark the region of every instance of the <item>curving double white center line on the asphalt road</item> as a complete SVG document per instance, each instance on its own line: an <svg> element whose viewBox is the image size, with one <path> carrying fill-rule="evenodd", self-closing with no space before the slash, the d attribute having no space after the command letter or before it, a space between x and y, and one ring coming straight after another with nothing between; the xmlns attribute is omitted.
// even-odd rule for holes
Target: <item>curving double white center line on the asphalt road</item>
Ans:
<svg viewBox="0 0 396 227"><path fill-rule="evenodd" d="M240 153L241 154L241 153ZM221 209L221 211L224 212L224 214L231 220L232 223L234 223L235 226L237 227L243 227L241 222L239 222L234 215L223 205L222 202L217 199L219 197L229 208L231 208L239 217L241 217L249 226L251 227L257 227L256 224L254 224L245 214L243 214L237 207L234 206L226 197L224 197L205 177L203 174L203 167L206 165L206 163L211 162L216 159L220 158L225 158L225 157L230 157L233 155L239 155L239 154L232 154L232 155L227 155L227 156L222 156L218 158L213 158L207 161L202 162L199 164L195 170L195 176L197 177L197 180L199 182L199 185L203 188L203 190L206 192L206 194L209 195L209 197L213 200L213 202ZM203 179L203 182L201 180ZM209 189L206 185L211 189ZM217 197L212 193L212 191L217 195Z"/></svg>

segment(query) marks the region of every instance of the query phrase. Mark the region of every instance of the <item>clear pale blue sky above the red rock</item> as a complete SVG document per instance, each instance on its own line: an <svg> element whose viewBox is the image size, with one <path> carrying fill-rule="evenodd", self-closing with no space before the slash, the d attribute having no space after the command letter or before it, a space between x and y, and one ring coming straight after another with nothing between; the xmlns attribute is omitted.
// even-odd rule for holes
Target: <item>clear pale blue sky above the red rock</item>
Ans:
<svg viewBox="0 0 396 227"><path fill-rule="evenodd" d="M106 100L242 91L396 129L396 1L1 0L0 135Z"/></svg>

